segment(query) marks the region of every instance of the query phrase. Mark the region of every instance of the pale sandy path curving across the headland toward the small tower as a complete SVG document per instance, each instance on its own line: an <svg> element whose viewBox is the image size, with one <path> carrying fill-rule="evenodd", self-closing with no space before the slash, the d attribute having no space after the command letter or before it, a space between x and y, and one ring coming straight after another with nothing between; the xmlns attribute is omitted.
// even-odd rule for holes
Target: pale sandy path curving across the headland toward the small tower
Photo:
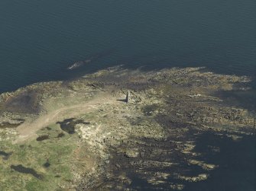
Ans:
<svg viewBox="0 0 256 191"><path fill-rule="evenodd" d="M28 138L34 137L38 130L49 126L50 124L57 123L58 121L62 121L63 119L78 116L81 113L86 113L92 110L99 109L97 105L114 103L114 100L115 99L113 97L110 97L108 94L102 94L101 96L97 96L96 98L88 101L87 103L71 107L62 107L43 116L38 116L37 119L25 122L21 124L21 126L17 127L17 132L19 136L15 140L15 143L24 142Z"/></svg>

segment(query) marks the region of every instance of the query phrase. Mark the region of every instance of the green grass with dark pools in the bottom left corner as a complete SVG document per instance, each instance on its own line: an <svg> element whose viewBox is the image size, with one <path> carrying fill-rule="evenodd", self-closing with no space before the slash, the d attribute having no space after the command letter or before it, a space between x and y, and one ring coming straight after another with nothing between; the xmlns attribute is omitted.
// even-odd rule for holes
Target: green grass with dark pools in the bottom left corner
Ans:
<svg viewBox="0 0 256 191"><path fill-rule="evenodd" d="M70 167L78 136L65 133L63 137L56 138L62 130L57 125L50 128L38 132L39 135L50 137L41 142L32 140L21 145L0 142L0 150L13 152L8 160L0 157L0 190L57 190L60 189L58 185L70 183L73 178ZM44 167L47 161L50 167ZM33 168L43 178L39 180L31 174L19 173L11 169L11 165L18 164Z"/></svg>

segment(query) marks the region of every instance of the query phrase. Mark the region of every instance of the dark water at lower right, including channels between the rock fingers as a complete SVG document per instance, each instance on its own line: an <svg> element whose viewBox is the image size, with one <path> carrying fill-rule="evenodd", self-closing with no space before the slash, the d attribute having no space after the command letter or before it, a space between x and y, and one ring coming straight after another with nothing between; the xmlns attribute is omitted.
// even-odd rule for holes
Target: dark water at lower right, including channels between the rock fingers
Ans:
<svg viewBox="0 0 256 191"><path fill-rule="evenodd" d="M148 151L154 151L154 140L147 140L151 142L151 147L144 148ZM127 159L124 156L118 156L117 164L122 166L118 172L125 172L131 179L131 185L129 188L136 190L173 190L170 189L170 185L183 185L182 190L248 190L253 191L256 188L256 137L255 135L245 135L243 138L236 141L229 138L227 135L217 135L212 132L204 132L196 137L196 147L194 152L199 156L193 157L193 159L199 161L205 161L207 164L215 164L216 168L213 170L203 170L198 165L188 165L188 156L179 153L173 149L173 145L170 140L166 142L157 142L157 145L163 148L164 154L160 156L154 156L154 154L148 155L144 158L146 161L171 161L175 165L164 168L155 168L151 166L139 166L131 167L126 165L135 161L136 159ZM139 159L141 160L141 158ZM139 161L138 160L138 161ZM152 172L168 173L170 177L164 180L164 183L152 185L147 183L147 173L141 175L138 173L142 170L152 174ZM186 180L180 180L175 174L183 174L189 177L197 176L199 173L208 173L207 180L198 182L190 182ZM115 182L115 180L112 180ZM174 189L175 190L175 189Z"/></svg>

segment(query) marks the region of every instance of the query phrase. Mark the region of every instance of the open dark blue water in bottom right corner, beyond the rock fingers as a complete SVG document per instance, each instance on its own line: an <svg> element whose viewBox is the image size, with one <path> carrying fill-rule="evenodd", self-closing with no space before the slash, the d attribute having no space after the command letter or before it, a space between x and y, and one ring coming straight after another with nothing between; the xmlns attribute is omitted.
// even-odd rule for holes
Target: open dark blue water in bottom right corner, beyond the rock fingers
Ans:
<svg viewBox="0 0 256 191"><path fill-rule="evenodd" d="M219 147L219 153L211 147ZM219 167L206 181L189 183L184 190L251 190L256 188L256 137L247 135L233 141L225 135L203 134L198 138L195 151L201 158Z"/></svg>

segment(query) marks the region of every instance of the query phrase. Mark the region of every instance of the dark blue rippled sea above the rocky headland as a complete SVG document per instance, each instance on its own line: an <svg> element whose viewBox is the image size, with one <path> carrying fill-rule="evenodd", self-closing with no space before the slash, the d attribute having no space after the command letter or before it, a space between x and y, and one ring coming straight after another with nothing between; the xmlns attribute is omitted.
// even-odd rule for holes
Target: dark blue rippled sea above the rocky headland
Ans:
<svg viewBox="0 0 256 191"><path fill-rule="evenodd" d="M255 10L254 0L1 0L0 92L120 64L253 76Z"/></svg>

